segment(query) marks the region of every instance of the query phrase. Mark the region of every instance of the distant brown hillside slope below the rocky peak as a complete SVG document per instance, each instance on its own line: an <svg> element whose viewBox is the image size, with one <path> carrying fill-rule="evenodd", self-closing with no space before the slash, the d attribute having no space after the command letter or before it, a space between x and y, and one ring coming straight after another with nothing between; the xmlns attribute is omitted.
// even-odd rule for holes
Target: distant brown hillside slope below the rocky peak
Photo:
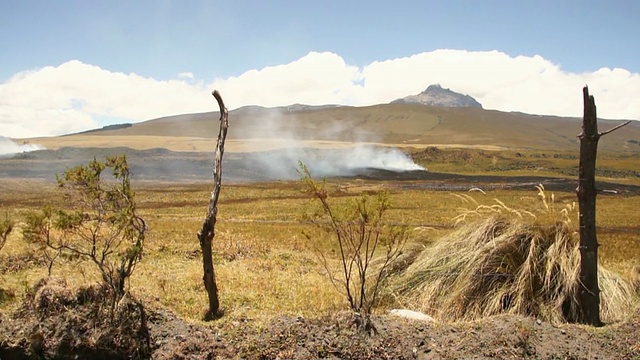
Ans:
<svg viewBox="0 0 640 360"><path fill-rule="evenodd" d="M580 114L581 109L576 113ZM217 112L164 117L104 130L95 135L151 135L215 138ZM619 121L599 120L606 130ZM365 107L301 107L301 110L240 108L229 114L229 139L300 139L390 144L495 145L510 148L575 150L580 118L529 115L473 107L382 104ZM283 140L288 141L288 140ZM603 151L640 151L640 121L607 134Z"/></svg>

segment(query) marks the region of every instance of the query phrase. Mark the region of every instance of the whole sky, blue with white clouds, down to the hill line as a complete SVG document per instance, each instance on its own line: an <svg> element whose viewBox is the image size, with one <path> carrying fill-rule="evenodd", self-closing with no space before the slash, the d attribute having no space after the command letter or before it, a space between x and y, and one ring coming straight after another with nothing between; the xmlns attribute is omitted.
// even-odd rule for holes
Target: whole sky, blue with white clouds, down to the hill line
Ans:
<svg viewBox="0 0 640 360"><path fill-rule="evenodd" d="M0 135L206 111L213 87L235 108L367 105L438 82L485 108L567 116L524 98L566 85L551 95L575 93L575 107L589 83L605 116L640 119L639 18L640 1L1 0ZM476 63L491 76L456 77ZM32 94L43 89L58 98Z"/></svg>

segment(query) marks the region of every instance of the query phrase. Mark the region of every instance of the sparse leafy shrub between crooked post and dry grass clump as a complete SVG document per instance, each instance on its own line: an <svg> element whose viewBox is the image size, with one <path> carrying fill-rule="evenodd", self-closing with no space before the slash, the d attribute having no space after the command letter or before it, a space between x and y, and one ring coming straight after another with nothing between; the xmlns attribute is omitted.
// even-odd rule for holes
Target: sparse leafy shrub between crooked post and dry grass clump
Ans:
<svg viewBox="0 0 640 360"><path fill-rule="evenodd" d="M318 249L316 253L331 283L346 297L351 310L362 317L357 325L366 331L375 331L371 312L389 275L390 265L402 254L407 241L406 229L386 223L390 204L384 192L378 192L375 197L359 196L346 208L338 209L330 203L326 181L313 180L303 164L300 164L300 174L306 190L321 204L320 211L311 214L309 219L335 237L339 275L325 252Z"/></svg>

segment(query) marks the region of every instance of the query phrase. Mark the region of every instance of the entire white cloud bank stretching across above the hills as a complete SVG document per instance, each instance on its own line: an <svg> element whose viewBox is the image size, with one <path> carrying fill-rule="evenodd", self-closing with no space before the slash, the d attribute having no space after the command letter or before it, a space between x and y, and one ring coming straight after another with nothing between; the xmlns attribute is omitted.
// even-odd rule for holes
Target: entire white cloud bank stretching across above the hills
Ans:
<svg viewBox="0 0 640 360"><path fill-rule="evenodd" d="M487 109L576 117L582 114L581 91L588 84L600 117L640 120L640 74L624 69L577 74L541 56L464 50L436 50L358 68L337 54L312 52L210 84L189 72L155 80L77 60L19 73L0 84L0 135L59 135L100 127L104 118L138 122L211 111L216 108L213 89L233 109L387 103L435 83L469 94Z"/></svg>

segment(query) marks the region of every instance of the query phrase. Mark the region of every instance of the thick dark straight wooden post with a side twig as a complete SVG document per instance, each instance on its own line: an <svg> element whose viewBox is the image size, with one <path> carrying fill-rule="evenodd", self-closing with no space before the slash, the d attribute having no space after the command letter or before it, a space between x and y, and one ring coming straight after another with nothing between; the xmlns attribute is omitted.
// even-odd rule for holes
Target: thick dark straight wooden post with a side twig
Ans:
<svg viewBox="0 0 640 360"><path fill-rule="evenodd" d="M580 165L578 175L578 205L580 207L580 284L578 301L580 306L579 322L594 326L600 321L600 289L598 287L598 240L596 237L596 157L598 140L628 124L625 122L611 130L598 133L596 105L589 89L582 89L584 98L584 117L580 139Z"/></svg>

